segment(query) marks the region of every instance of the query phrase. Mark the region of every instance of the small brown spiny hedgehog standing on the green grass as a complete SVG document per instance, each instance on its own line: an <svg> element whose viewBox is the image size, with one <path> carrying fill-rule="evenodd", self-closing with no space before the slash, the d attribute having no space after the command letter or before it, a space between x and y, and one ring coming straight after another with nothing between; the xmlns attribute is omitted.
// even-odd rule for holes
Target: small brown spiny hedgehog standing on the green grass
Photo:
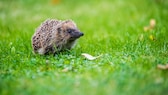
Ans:
<svg viewBox="0 0 168 95"><path fill-rule="evenodd" d="M47 19L32 36L32 47L34 53L55 54L70 50L83 35L72 20Z"/></svg>

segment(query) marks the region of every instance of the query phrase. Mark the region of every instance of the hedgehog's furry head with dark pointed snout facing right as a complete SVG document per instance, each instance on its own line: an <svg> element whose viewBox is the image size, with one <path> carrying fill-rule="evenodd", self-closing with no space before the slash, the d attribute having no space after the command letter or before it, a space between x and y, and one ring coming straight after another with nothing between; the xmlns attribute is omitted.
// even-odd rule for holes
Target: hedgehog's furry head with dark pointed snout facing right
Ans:
<svg viewBox="0 0 168 95"><path fill-rule="evenodd" d="M67 41L75 41L76 39L84 35L82 32L79 31L76 24L71 20L63 21L58 26L58 32Z"/></svg>

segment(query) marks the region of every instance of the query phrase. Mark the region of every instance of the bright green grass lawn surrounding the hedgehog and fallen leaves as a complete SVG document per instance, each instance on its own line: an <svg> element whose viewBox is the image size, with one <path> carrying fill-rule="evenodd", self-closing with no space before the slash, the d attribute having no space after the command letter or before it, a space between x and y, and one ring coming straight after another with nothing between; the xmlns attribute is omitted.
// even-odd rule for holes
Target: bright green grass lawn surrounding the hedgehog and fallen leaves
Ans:
<svg viewBox="0 0 168 95"><path fill-rule="evenodd" d="M168 95L157 68L168 63L168 1L58 1L0 1L0 95ZM47 18L72 19L85 35L70 52L34 55L31 36Z"/></svg>

